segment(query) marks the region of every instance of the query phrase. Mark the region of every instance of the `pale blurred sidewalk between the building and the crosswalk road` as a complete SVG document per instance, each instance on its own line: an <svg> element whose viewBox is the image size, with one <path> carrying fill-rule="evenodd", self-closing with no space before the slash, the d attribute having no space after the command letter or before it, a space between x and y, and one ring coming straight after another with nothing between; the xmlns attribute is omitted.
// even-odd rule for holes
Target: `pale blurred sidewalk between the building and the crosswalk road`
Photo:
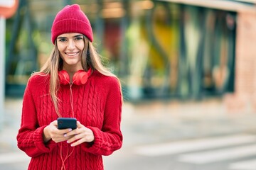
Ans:
<svg viewBox="0 0 256 170"><path fill-rule="evenodd" d="M0 154L18 150L16 135L21 122L22 98L7 98L4 106ZM256 113L228 113L220 99L124 102L122 132L123 147L197 137L255 133Z"/></svg>

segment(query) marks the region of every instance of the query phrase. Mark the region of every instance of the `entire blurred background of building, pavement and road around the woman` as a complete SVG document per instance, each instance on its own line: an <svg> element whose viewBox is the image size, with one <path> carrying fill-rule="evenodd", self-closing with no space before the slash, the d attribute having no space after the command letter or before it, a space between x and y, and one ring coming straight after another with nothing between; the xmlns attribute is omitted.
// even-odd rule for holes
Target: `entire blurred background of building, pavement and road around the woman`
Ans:
<svg viewBox="0 0 256 170"><path fill-rule="evenodd" d="M122 83L124 145L106 170L256 169L255 0L0 0L0 169L28 166L23 91L68 4Z"/></svg>

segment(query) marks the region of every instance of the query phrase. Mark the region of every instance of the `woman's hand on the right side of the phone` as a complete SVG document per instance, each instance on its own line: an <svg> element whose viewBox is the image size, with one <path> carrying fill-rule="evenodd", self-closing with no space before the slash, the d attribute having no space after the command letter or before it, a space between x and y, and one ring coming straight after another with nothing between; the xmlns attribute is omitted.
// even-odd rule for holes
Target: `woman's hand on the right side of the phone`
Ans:
<svg viewBox="0 0 256 170"><path fill-rule="evenodd" d="M72 143L71 147L80 145L83 142L93 142L95 140L92 130L86 128L79 121L77 122L77 126L78 128L72 130L71 132L68 132L65 135L66 137L73 136L69 140L67 140L68 143Z"/></svg>

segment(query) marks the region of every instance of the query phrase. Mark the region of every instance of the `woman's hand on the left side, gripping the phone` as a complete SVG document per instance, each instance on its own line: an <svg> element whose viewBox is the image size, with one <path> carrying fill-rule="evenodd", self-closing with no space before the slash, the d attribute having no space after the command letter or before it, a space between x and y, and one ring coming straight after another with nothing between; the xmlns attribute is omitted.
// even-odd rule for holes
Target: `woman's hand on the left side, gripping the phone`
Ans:
<svg viewBox="0 0 256 170"><path fill-rule="evenodd" d="M58 129L57 120L51 122L46 128L43 129L43 142L48 142L50 139L54 142L63 142L68 140L70 137L65 137L65 134L70 132L72 129Z"/></svg>

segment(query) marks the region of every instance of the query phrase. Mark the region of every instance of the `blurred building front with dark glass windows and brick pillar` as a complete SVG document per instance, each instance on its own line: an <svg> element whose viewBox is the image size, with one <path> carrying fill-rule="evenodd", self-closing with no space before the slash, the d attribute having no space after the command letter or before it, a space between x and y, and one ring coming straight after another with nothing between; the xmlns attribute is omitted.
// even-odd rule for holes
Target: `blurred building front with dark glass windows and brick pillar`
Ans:
<svg viewBox="0 0 256 170"><path fill-rule="evenodd" d="M124 100L213 97L240 109L256 103L255 4L224 0L21 0L7 20L7 96L22 96L50 55L51 23L67 4L80 4L90 19Z"/></svg>

